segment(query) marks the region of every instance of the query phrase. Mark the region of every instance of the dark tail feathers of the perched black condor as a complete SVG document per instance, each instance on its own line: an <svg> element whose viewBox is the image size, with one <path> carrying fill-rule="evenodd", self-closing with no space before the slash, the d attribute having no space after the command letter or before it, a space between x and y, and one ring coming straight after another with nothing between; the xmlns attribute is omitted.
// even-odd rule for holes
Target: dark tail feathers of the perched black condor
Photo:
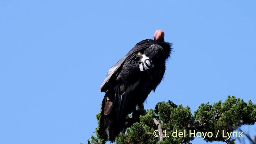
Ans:
<svg viewBox="0 0 256 144"><path fill-rule="evenodd" d="M115 140L120 132L124 132L125 117L122 116L121 102L119 86L114 90L108 90L102 100L98 134L104 140Z"/></svg>

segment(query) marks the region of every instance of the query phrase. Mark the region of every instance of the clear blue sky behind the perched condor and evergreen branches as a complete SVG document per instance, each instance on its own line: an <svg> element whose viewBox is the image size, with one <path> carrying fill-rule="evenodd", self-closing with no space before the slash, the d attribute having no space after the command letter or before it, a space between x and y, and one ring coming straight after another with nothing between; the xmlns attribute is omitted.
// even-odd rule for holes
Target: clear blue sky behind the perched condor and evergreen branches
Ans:
<svg viewBox="0 0 256 144"><path fill-rule="evenodd" d="M145 108L172 100L194 113L200 103L228 95L256 103L255 6L254 0L0 0L0 143L86 144L109 68L157 29L175 52Z"/></svg>

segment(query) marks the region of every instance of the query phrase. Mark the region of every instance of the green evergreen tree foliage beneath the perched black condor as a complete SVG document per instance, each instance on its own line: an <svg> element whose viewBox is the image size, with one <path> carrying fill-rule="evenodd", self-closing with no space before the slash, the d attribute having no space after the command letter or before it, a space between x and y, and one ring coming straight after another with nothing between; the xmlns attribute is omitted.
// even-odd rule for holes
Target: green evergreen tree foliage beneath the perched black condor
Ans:
<svg viewBox="0 0 256 144"><path fill-rule="evenodd" d="M99 122L100 113L96 115ZM256 104L248 103L235 96L228 96L213 105L207 102L200 104L194 116L188 106L176 105L172 101L158 102L155 109L146 110L140 116L127 116L125 134L116 138L116 144L190 144L195 137L206 142L221 141L233 144L236 138L248 138L252 144L254 138L243 133L242 125L253 125L256 122ZM96 132L97 132L96 128ZM240 131L239 131L240 130ZM112 141L114 142L114 141ZM96 133L88 144L105 144Z"/></svg>

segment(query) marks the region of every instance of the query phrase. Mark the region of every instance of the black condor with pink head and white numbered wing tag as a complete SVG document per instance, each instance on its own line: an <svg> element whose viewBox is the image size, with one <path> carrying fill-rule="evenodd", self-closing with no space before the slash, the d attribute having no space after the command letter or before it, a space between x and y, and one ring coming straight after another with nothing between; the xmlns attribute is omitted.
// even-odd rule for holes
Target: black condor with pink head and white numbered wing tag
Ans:
<svg viewBox="0 0 256 144"><path fill-rule="evenodd" d="M100 92L106 92L98 130L104 140L114 140L124 133L126 116L137 105L144 111L143 102L162 81L171 46L164 42L164 32L156 30L153 40L140 41L110 68L100 87Z"/></svg>

